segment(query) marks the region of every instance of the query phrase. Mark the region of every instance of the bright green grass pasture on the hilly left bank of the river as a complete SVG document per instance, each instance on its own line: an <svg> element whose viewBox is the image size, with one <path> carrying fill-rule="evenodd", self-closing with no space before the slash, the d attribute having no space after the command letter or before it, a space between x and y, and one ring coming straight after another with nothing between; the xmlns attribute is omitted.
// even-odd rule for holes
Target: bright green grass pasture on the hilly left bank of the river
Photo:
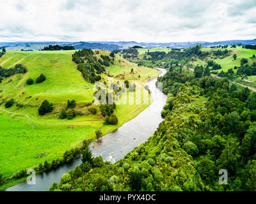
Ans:
<svg viewBox="0 0 256 204"><path fill-rule="evenodd" d="M58 159L66 150L80 145L83 140L95 138L96 129L102 128L105 135L147 108L147 104L117 105L116 125L104 125L104 120L99 114L99 106L95 106L97 115L81 115L72 120L58 119L58 111L61 106L66 105L68 99L75 99L79 105L92 101L95 92L93 85L83 79L76 64L72 62L73 52L8 52L1 57L0 65L3 68L12 68L17 63L28 68L25 75L14 75L4 79L0 84L0 101L13 98L25 105L22 108L14 105L7 110L29 115L28 119L0 110L0 173L4 176L10 177L16 171L31 168L45 160ZM104 50L99 52L99 55L109 54ZM134 69L134 73L131 73L131 69ZM115 57L113 65L106 68L106 72L113 75L115 81L121 81L115 76L122 74L122 80L143 83L159 73L156 69L138 67L119 56ZM26 85L28 78L35 80L41 73L46 77L45 82ZM106 78L107 76L102 74L102 81ZM131 94L133 93L129 93ZM54 104L54 111L42 117L38 115L37 110L44 99ZM1 107L4 108L4 103ZM69 126L73 128L68 128ZM42 152L45 152L44 157L36 157Z"/></svg>

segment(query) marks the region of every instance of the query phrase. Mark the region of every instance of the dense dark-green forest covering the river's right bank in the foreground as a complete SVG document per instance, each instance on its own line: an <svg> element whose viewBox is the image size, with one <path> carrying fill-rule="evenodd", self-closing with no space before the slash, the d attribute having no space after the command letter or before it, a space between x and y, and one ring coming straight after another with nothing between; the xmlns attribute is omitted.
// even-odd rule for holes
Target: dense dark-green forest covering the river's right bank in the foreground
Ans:
<svg viewBox="0 0 256 204"><path fill-rule="evenodd" d="M114 164L86 148L83 164L50 191L256 190L256 94L179 68L158 82L168 101L154 135Z"/></svg>

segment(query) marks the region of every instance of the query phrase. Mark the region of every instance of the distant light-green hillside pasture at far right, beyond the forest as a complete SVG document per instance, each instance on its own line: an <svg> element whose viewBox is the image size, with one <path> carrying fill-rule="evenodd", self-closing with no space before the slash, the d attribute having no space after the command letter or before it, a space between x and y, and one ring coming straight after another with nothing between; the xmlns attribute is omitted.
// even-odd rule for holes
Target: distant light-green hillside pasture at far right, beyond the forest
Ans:
<svg viewBox="0 0 256 204"><path fill-rule="evenodd" d="M205 52L211 52L212 50L218 50L218 49L202 48L202 51L205 51ZM220 50L225 50L225 49L220 49ZM232 54L228 57L225 57L224 59L214 59L214 58L211 59L211 57L212 57L211 56L211 57L205 57L204 61L202 61L200 59L196 59L196 61L193 61L192 64L205 65L205 64L207 64L207 61L213 60L216 63L220 64L221 68L222 68L222 69L215 70L215 71L220 72L221 70L223 70L223 71L227 72L228 69L230 69L230 68L234 69L234 66L237 66L237 67L241 66L242 58L248 59L248 63L250 65L252 64L253 61L256 62L256 59L251 58L253 54L256 55L256 50L245 49L242 47L236 47L236 48L228 47L227 50L231 50ZM237 59L234 61L234 58L232 56L235 53L237 55ZM236 69L234 69L234 71L236 71Z"/></svg>

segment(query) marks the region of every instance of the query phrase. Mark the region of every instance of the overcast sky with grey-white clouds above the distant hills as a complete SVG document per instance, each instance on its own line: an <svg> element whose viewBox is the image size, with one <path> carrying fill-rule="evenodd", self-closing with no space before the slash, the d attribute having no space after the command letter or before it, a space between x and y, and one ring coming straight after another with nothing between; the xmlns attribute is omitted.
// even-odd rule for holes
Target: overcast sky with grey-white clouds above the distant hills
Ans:
<svg viewBox="0 0 256 204"><path fill-rule="evenodd" d="M0 41L256 38L256 0L0 0Z"/></svg>

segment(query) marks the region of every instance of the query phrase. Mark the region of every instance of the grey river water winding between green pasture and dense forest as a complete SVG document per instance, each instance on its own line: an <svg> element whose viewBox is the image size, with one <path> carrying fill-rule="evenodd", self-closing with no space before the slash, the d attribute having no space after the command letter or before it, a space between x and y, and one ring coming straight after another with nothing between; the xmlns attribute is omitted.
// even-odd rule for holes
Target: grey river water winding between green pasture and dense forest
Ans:
<svg viewBox="0 0 256 204"><path fill-rule="evenodd" d="M166 73L165 69L158 68L161 71L159 76ZM131 152L134 147L147 141L154 131L163 121L161 111L166 103L167 96L156 87L156 78L147 83L153 102L137 115L134 119L125 122L115 132L108 133L101 138L102 143L91 143L90 149L93 156L102 156L104 161L118 161L125 154ZM59 183L64 173L76 168L81 164L81 158L74 159L71 163L63 164L56 170L40 173L36 175L36 184L29 185L27 182L21 182L16 186L9 187L4 191L47 191L53 182Z"/></svg>

